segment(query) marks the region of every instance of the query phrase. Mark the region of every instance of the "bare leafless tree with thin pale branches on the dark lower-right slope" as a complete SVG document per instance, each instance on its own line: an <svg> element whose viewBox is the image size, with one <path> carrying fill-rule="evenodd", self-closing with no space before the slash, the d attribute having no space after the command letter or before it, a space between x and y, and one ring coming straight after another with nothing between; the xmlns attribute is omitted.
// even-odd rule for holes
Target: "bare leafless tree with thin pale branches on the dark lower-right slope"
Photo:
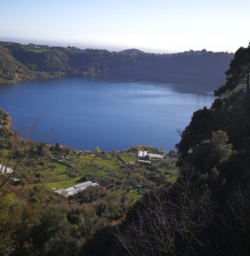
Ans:
<svg viewBox="0 0 250 256"><path fill-rule="evenodd" d="M213 222L209 191L192 196L189 181L177 193L156 191L138 205L136 220L116 234L128 255L194 255L202 231Z"/></svg>

